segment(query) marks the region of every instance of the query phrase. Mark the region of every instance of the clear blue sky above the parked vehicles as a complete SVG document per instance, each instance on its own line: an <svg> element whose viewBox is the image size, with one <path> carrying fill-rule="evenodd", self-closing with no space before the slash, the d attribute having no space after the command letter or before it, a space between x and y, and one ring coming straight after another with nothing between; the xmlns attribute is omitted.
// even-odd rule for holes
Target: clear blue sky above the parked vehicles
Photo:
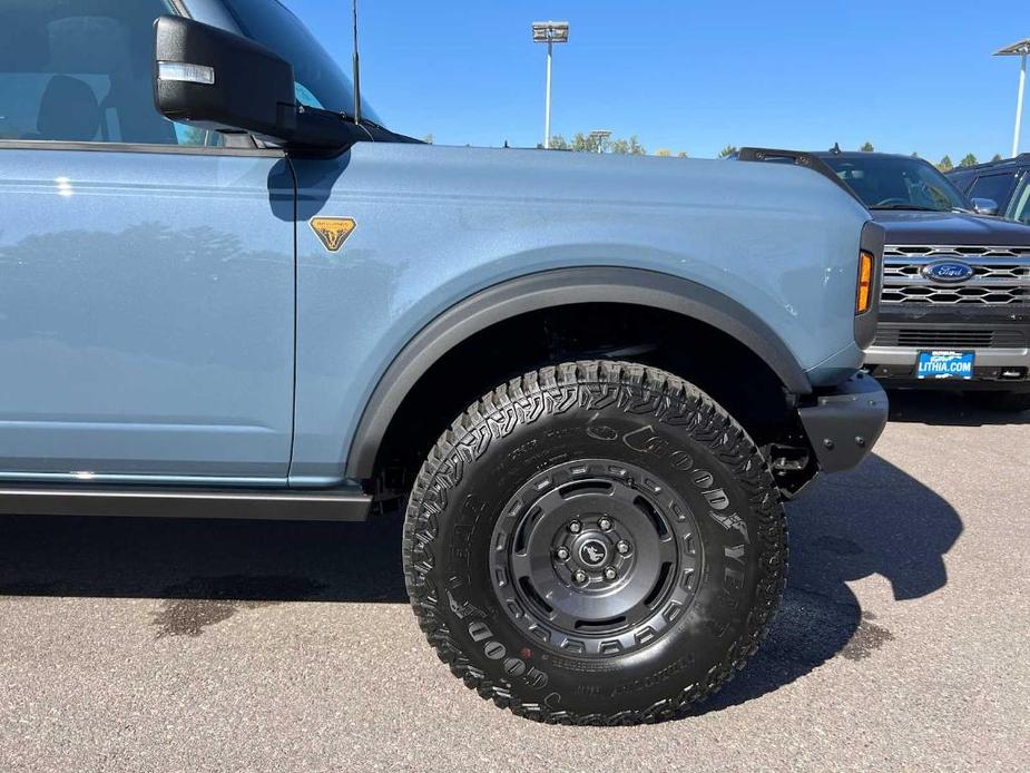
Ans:
<svg viewBox="0 0 1030 773"><path fill-rule="evenodd" d="M350 0L284 0L350 72ZM531 146L545 47L561 19L552 134L611 129L713 157L733 145L912 153L1011 149L1026 0L360 0L362 90L384 121L438 144ZM1030 112L1030 104L1028 104ZM1030 150L1030 115L1021 149Z"/></svg>

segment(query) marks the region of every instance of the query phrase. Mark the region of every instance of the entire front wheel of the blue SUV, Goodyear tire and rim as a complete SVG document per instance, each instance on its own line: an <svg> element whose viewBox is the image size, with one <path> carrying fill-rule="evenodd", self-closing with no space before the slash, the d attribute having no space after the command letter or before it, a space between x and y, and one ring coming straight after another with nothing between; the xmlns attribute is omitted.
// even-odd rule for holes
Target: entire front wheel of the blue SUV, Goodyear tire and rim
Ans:
<svg viewBox="0 0 1030 773"><path fill-rule="evenodd" d="M469 687L543 722L685 714L782 595L783 509L746 432L663 371L567 363L496 389L422 466L404 526L419 622Z"/></svg>

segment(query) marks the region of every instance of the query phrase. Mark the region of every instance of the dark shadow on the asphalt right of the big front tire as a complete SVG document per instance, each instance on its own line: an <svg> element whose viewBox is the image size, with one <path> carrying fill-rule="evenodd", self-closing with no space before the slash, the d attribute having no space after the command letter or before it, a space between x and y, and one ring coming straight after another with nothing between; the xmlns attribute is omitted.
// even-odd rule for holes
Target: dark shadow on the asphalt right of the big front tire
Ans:
<svg viewBox="0 0 1030 773"><path fill-rule="evenodd" d="M787 505L791 566L779 615L745 669L700 713L773 692L841 656L875 658L894 638L846 583L881 575L899 601L944 587L962 520L941 496L871 456Z"/></svg>

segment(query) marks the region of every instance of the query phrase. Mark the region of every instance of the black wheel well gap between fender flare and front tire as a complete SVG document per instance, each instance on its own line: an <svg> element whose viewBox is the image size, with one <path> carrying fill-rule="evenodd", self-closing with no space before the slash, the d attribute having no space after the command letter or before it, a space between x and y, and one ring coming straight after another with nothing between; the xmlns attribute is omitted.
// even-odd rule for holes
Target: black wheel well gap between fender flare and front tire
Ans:
<svg viewBox="0 0 1030 773"><path fill-rule="evenodd" d="M761 447L796 429L794 395L751 349L676 312L580 303L503 320L440 358L393 414L375 462L375 488L406 491L433 443L482 394L522 373L578 359L661 368L705 390Z"/></svg>

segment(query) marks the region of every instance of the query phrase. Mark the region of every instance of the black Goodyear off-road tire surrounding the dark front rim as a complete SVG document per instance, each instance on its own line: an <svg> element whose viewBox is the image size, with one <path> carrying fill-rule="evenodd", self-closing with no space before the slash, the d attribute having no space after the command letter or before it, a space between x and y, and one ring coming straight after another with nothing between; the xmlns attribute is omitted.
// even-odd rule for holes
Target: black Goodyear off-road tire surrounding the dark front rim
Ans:
<svg viewBox="0 0 1030 773"><path fill-rule="evenodd" d="M557 635L545 644L504 608L503 584L491 578L501 550L492 540L513 517L506 502L527 481L545 489L550 470L575 478L597 467L579 459L636 470L638 480L611 485L646 483L647 497L660 487L640 478L667 481L668 497L689 509L680 520L696 524L697 535L684 536L695 540L690 560L703 561L693 597L683 608L668 603L654 626L660 635L624 635L628 653L565 654ZM654 368L586 361L498 387L441 436L408 506L404 575L430 644L483 698L540 722L626 725L683 716L744 667L783 594L786 539L765 460L712 398Z"/></svg>

